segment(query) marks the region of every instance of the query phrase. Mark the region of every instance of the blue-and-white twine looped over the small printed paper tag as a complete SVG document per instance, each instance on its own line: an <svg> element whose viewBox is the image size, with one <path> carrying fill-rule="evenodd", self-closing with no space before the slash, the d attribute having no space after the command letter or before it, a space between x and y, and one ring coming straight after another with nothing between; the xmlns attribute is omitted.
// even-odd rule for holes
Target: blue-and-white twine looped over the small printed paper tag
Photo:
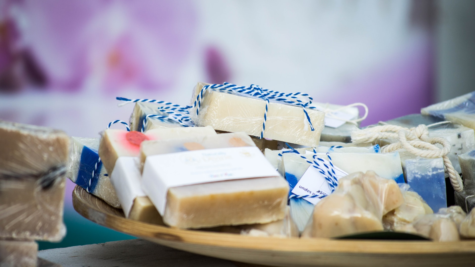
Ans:
<svg viewBox="0 0 475 267"><path fill-rule="evenodd" d="M305 160L305 162L310 163L315 169L319 170L320 173L322 173L323 177L325 180L328 182L328 185L332 189L332 192L335 191L335 188L338 186L338 180L335 177L335 169L333 166L332 158L330 157L330 153L326 153L326 156L328 157L328 162L330 165L326 164L325 161L320 158L318 155L314 154L312 156L313 161L309 161L307 157L302 156L295 148L291 147L288 143L285 143L287 147L290 148L289 151L283 151L282 153L296 153L299 154L301 158ZM314 149L315 151L315 149ZM282 153L279 153L279 156L282 156ZM320 163L319 163L320 162ZM324 170L322 166L324 167ZM289 199L292 198L324 198L326 194L322 195L296 195L296 194L291 194L289 196Z"/></svg>

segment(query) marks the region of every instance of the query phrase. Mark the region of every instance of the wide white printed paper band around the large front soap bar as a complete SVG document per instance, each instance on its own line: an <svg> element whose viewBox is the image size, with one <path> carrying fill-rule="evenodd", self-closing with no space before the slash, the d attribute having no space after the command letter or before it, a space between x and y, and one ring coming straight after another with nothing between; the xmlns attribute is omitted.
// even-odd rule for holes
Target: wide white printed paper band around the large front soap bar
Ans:
<svg viewBox="0 0 475 267"><path fill-rule="evenodd" d="M142 189L163 215L172 187L272 176L279 173L255 146L205 149L148 156Z"/></svg>

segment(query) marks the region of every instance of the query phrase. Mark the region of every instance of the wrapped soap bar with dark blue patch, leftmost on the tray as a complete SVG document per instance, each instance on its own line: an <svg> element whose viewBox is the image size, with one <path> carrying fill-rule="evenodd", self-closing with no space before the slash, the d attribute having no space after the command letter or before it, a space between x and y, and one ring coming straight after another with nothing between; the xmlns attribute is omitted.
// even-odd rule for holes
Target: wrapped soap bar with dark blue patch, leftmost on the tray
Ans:
<svg viewBox="0 0 475 267"><path fill-rule="evenodd" d="M66 176L112 207L120 208L107 171L99 162L99 138L71 137L71 140L71 160Z"/></svg>

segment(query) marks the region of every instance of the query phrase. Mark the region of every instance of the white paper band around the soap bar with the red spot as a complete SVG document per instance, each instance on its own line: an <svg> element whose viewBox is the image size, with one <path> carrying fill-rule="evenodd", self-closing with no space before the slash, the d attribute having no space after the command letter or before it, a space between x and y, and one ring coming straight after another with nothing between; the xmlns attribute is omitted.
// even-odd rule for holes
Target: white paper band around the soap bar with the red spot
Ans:
<svg viewBox="0 0 475 267"><path fill-rule="evenodd" d="M135 198L145 196L141 187L139 165L138 157L119 157L110 176L126 218L130 215Z"/></svg>

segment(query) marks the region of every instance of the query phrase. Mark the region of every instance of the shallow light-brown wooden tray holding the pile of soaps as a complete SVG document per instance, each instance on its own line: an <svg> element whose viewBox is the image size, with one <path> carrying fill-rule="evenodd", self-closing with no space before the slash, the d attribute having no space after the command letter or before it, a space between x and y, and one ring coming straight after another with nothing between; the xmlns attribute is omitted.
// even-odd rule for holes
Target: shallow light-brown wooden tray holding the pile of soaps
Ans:
<svg viewBox="0 0 475 267"><path fill-rule="evenodd" d="M122 210L79 186L73 191L73 206L86 219L107 228L167 247L236 261L241 267L475 267L475 240L300 239L181 230L125 219Z"/></svg>

